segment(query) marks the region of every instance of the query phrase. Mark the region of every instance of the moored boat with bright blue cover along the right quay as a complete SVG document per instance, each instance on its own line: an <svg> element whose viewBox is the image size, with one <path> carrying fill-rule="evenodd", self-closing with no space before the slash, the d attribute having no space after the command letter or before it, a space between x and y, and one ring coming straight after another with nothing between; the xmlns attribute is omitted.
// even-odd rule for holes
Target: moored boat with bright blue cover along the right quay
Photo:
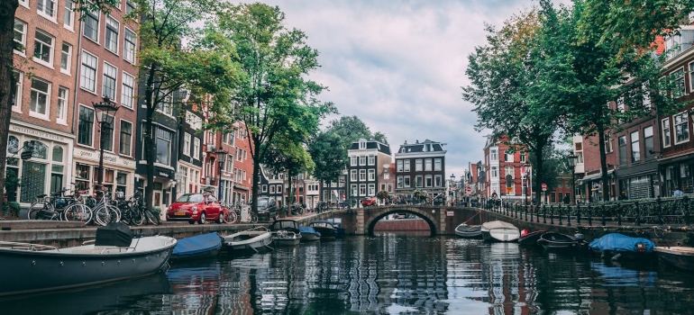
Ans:
<svg viewBox="0 0 694 315"><path fill-rule="evenodd" d="M641 259L653 257L655 244L647 238L632 238L619 233L609 233L602 238L593 239L588 245L604 258Z"/></svg>

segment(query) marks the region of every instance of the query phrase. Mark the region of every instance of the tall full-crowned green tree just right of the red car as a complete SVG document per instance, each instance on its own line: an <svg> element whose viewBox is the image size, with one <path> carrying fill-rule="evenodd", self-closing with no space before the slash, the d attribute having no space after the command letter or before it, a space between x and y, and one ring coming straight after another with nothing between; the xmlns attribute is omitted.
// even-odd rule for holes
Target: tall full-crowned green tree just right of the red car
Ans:
<svg viewBox="0 0 694 315"><path fill-rule="evenodd" d="M215 105L215 124L242 121L249 130L253 174L260 172L276 141L282 135L306 139L318 130L324 115L334 112L333 103L316 96L325 87L306 76L318 67L318 52L306 45L306 34L288 30L279 7L267 4L223 4L219 30L233 42L236 61L243 72L232 103ZM295 143L298 143L295 142ZM258 176L253 176L252 210L257 210Z"/></svg>

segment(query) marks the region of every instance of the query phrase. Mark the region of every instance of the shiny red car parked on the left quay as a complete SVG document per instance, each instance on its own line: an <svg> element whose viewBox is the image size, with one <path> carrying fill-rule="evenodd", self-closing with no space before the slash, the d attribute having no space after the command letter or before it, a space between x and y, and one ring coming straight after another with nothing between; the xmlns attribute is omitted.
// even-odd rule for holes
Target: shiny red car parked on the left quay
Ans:
<svg viewBox="0 0 694 315"><path fill-rule="evenodd" d="M185 220L190 224L196 222L205 224L207 220L215 220L223 223L220 215L222 206L214 195L210 193L186 193L166 211L166 220Z"/></svg>

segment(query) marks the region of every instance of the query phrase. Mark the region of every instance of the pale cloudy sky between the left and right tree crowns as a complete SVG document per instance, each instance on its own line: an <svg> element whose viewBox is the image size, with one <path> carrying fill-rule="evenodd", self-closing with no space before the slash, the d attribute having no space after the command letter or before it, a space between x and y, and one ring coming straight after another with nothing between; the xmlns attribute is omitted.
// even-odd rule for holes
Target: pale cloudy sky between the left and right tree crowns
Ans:
<svg viewBox="0 0 694 315"><path fill-rule="evenodd" d="M474 130L468 57L486 44L485 23L501 26L533 0L260 0L304 31L321 67L309 77L342 115L380 131L391 151L405 141L445 143L446 177L482 160L489 131ZM565 3L566 1L562 1Z"/></svg>

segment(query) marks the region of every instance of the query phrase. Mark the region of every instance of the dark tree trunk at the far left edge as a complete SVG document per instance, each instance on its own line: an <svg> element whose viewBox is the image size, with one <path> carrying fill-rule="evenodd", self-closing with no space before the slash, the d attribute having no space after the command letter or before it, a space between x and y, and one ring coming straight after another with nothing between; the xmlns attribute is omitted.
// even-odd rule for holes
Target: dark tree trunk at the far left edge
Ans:
<svg viewBox="0 0 694 315"><path fill-rule="evenodd" d="M5 204L5 163L7 137L12 118L12 88L14 69L14 13L18 0L0 1L0 205Z"/></svg>

